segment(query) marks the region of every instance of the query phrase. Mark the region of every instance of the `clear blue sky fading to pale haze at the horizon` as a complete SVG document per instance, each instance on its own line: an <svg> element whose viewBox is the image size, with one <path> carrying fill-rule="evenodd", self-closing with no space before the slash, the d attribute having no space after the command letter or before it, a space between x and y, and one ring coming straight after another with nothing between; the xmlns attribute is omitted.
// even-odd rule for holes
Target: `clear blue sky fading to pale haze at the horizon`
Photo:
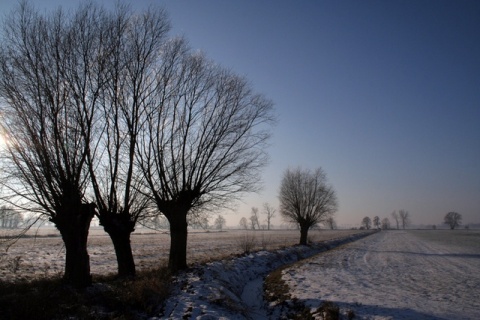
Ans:
<svg viewBox="0 0 480 320"><path fill-rule="evenodd" d="M479 1L126 2L164 6L172 35L275 102L264 189L225 213L228 225L278 207L282 174L297 166L326 171L340 226L400 209L414 224L449 211L480 222Z"/></svg>

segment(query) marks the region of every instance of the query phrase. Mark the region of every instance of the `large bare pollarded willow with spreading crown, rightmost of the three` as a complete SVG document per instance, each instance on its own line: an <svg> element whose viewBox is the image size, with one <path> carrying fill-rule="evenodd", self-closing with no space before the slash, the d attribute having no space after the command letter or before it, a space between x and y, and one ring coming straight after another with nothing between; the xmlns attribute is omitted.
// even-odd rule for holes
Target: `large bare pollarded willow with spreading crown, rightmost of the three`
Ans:
<svg viewBox="0 0 480 320"><path fill-rule="evenodd" d="M257 190L274 117L272 102L245 79L183 40L163 55L138 158L147 193L169 221L169 268L177 271L187 266L187 218Z"/></svg>

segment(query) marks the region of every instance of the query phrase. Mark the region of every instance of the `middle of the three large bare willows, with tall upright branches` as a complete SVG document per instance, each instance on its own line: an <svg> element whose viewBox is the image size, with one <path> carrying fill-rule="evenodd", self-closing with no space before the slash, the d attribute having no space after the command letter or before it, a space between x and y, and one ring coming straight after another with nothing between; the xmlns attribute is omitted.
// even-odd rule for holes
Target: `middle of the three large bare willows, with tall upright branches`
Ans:
<svg viewBox="0 0 480 320"><path fill-rule="evenodd" d="M84 32L91 24L88 17L79 22L78 34L83 37L79 42L85 47L94 37ZM149 200L141 192L142 174L136 165L138 136L145 104L154 99L158 52L166 42L169 25L163 10L151 8L135 14L120 6L106 15L98 28L105 39L103 47L87 49L108 54L97 68L102 81L98 101L85 106L93 121L82 123L83 132L92 132L96 142L88 148L87 163L98 218L114 245L118 275L133 277L130 235L137 221L145 217ZM91 61L73 63L83 66ZM73 74L71 82L74 91L84 96L88 92L82 92L83 81L75 81L81 76Z"/></svg>

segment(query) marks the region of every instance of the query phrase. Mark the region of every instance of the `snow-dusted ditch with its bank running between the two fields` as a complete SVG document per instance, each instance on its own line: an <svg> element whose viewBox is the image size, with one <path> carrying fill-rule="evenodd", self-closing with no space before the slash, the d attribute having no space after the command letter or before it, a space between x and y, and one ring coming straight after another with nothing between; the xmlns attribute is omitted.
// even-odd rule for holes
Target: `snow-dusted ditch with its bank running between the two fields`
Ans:
<svg viewBox="0 0 480 320"><path fill-rule="evenodd" d="M178 276L173 294L157 319L268 319L263 302L263 279L268 273L368 234L314 246L260 251L196 267Z"/></svg>

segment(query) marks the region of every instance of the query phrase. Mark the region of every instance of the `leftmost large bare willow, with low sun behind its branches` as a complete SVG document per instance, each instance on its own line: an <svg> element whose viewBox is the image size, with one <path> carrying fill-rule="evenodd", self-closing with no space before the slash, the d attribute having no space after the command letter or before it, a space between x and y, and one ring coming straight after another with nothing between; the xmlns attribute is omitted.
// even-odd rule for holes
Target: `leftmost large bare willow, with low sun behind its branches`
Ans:
<svg viewBox="0 0 480 320"><path fill-rule="evenodd" d="M76 287L91 283L87 236L94 205L85 199L91 135L81 127L91 114L79 107L87 97L76 96L68 74L89 68L71 63L84 53L74 34L87 11L72 19L60 10L41 16L23 2L4 24L0 49L2 127L9 135L4 190L12 203L56 225L66 248L64 279ZM101 47L99 39L90 45ZM84 84L98 87L96 81Z"/></svg>

